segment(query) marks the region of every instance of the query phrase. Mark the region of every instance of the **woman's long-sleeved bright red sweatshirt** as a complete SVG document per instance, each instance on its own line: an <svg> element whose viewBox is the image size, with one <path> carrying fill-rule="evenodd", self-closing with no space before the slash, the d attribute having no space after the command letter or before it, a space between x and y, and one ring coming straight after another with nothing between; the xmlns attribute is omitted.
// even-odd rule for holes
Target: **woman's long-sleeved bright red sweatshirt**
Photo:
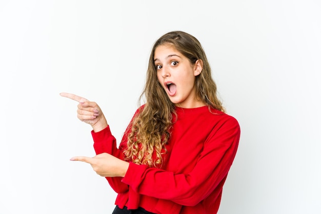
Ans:
<svg viewBox="0 0 321 214"><path fill-rule="evenodd" d="M106 178L118 193L115 204L119 207L139 206L162 214L217 213L237 151L239 124L223 112L210 112L208 106L176 108L176 113L162 167L130 162L124 178ZM96 154L123 159L127 135L125 132L117 148L109 126L101 132L92 131Z"/></svg>

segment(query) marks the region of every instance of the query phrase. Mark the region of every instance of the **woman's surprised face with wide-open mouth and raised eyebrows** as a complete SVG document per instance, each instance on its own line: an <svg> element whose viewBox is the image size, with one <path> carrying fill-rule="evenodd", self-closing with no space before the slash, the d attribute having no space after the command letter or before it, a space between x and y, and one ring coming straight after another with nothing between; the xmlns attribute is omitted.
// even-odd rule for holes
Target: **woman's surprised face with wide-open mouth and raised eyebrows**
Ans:
<svg viewBox="0 0 321 214"><path fill-rule="evenodd" d="M187 57L167 44L155 49L154 63L159 83L176 106L197 108L205 105L197 99L194 86L195 76L203 69L201 60L193 65Z"/></svg>

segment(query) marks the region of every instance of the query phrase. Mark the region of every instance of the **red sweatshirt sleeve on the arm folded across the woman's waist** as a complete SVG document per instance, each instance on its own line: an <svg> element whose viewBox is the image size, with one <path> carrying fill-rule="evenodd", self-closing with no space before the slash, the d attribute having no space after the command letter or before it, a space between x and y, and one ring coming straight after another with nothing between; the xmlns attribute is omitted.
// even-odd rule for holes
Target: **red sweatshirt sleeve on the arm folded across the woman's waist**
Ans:
<svg viewBox="0 0 321 214"><path fill-rule="evenodd" d="M238 122L229 117L209 134L203 151L189 174L174 174L130 163L122 181L139 194L194 206L213 191L217 191L217 194L222 191L236 155L239 136Z"/></svg>

